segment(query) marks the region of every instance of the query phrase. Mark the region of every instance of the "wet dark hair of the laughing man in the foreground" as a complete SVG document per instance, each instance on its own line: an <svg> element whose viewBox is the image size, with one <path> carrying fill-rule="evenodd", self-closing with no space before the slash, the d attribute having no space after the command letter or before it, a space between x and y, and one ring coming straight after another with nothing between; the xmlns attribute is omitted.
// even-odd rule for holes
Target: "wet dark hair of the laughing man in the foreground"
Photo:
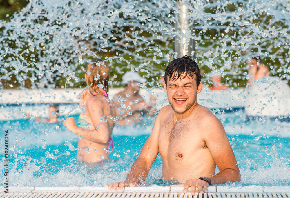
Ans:
<svg viewBox="0 0 290 198"><path fill-rule="evenodd" d="M182 58L174 59L165 69L164 82L167 85L167 78L176 81L192 77L196 81L196 86L200 84L200 69L195 61L190 56L184 55Z"/></svg>

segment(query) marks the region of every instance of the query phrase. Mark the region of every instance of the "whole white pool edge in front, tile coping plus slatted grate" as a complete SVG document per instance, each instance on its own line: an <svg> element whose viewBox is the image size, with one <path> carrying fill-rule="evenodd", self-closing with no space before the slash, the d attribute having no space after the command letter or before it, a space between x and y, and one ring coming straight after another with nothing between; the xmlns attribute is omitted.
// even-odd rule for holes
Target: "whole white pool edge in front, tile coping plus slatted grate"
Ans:
<svg viewBox="0 0 290 198"><path fill-rule="evenodd" d="M108 190L107 187L9 187L1 186L0 198L172 198L192 197L183 193L183 187L149 186L125 187ZM195 193L194 198L289 198L290 186L209 186L208 193Z"/></svg>

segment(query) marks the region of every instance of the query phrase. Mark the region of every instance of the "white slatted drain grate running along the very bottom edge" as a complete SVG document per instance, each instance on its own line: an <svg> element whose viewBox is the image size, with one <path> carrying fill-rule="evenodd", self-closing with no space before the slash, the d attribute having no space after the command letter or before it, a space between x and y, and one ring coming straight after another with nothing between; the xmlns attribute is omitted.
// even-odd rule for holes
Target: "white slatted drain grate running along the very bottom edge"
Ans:
<svg viewBox="0 0 290 198"><path fill-rule="evenodd" d="M290 198L290 193L154 193L154 192L15 192L0 193L0 198Z"/></svg>

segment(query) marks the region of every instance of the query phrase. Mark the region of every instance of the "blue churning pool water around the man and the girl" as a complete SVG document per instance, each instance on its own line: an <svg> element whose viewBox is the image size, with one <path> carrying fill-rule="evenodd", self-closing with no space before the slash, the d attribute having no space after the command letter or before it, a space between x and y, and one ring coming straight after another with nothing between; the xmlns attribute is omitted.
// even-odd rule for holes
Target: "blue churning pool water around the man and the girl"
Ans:
<svg viewBox="0 0 290 198"><path fill-rule="evenodd" d="M249 122L242 110L219 113L216 115L228 134L242 180L224 185L289 185L290 124L267 119ZM39 123L27 119L1 121L1 129L9 130L10 137L10 185L104 186L123 181L150 135L153 121L154 118L146 118L139 125L115 127L114 151L110 153L113 160L99 166L76 161L78 137L62 123ZM161 167L162 159L158 156L143 185L176 183L161 179ZM3 174L0 178L3 180Z"/></svg>

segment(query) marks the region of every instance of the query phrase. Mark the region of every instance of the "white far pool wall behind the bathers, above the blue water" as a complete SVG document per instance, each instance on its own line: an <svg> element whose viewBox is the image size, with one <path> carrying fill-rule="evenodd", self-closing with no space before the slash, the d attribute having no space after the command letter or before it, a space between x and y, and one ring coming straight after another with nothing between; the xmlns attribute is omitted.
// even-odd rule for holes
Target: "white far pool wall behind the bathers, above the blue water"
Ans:
<svg viewBox="0 0 290 198"><path fill-rule="evenodd" d="M122 91L123 88L111 88L109 97ZM15 120L23 118L23 113L28 112L32 115L47 117L49 103L63 103L59 105L60 115L67 115L77 106L78 94L83 91L77 89L46 89L46 90L2 90L0 93L0 120ZM239 97L242 89L221 90L221 91L202 91L198 94L198 103L208 108L240 108L244 107L244 99ZM163 89L155 88L151 93L146 89L140 90L140 95L144 96L146 102L150 103L150 94L157 98L156 109L168 105L167 94ZM18 104L18 105L17 105ZM41 104L47 104L45 107ZM80 113L79 108L75 108L71 114Z"/></svg>

